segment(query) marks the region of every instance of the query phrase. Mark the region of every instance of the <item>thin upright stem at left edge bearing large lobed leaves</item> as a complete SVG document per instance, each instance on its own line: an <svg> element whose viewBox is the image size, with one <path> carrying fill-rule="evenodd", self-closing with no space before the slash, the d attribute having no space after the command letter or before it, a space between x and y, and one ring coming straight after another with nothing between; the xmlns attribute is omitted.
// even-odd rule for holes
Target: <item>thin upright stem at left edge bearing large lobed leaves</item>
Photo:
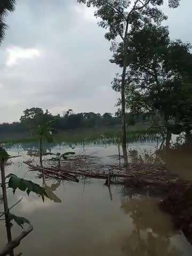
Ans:
<svg viewBox="0 0 192 256"><path fill-rule="evenodd" d="M11 225L9 221L9 206L7 202L7 194L6 194L6 183L5 183L5 160L1 159L1 178L2 178L2 191L3 191L3 204L4 204L4 212L5 212L5 226L7 233L7 242L10 243L12 241L11 236ZM13 250L9 252L10 256L14 256Z"/></svg>

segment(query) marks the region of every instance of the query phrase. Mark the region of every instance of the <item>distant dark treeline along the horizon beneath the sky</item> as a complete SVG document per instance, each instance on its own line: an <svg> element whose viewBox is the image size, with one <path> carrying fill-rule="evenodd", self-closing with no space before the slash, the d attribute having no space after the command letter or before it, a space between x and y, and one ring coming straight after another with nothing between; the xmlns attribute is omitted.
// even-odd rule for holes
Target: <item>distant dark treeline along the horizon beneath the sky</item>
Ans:
<svg viewBox="0 0 192 256"><path fill-rule="evenodd" d="M127 123L134 125L135 122L146 122L146 116L127 114ZM32 134L39 124L53 121L52 127L56 132L68 129L91 128L99 126L121 125L121 117L111 113L73 113L72 109L66 111L63 116L52 115L48 110L42 108L30 108L23 111L20 122L0 124L0 133L17 133L30 131Z"/></svg>

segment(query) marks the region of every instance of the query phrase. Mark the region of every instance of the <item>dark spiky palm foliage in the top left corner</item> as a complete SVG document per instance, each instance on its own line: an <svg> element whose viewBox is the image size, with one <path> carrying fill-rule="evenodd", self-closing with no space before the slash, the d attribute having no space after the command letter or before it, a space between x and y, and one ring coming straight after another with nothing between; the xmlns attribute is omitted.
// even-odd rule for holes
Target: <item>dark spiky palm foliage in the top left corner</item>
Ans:
<svg viewBox="0 0 192 256"><path fill-rule="evenodd" d="M16 0L1 0L0 1L0 44L3 42L5 37L5 30L7 25L5 23L5 18L9 12L13 12L15 9Z"/></svg>

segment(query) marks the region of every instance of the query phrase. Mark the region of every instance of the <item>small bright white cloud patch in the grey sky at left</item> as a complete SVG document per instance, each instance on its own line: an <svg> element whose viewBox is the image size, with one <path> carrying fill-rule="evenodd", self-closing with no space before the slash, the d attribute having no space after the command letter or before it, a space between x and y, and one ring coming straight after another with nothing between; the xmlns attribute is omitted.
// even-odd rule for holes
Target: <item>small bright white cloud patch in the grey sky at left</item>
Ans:
<svg viewBox="0 0 192 256"><path fill-rule="evenodd" d="M17 65L18 60L30 60L38 58L41 53L39 50L34 48L21 48L17 46L12 46L6 49L8 53L8 58L6 60L6 66L12 67L14 65Z"/></svg>

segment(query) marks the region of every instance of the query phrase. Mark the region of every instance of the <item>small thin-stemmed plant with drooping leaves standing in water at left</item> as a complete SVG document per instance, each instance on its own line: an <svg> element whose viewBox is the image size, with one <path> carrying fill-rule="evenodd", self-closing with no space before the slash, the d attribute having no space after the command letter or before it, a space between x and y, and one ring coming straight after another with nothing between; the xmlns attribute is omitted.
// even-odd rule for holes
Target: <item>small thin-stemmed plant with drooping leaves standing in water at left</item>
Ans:
<svg viewBox="0 0 192 256"><path fill-rule="evenodd" d="M43 140L45 139L47 142L53 141L53 137L50 133L50 130L53 130L51 127L52 123L53 123L53 121L49 121L45 124L41 124L38 126L38 128L36 130L36 133L38 134L38 137L39 137L39 162L40 162L41 166L43 166L43 160L42 160Z"/></svg>

